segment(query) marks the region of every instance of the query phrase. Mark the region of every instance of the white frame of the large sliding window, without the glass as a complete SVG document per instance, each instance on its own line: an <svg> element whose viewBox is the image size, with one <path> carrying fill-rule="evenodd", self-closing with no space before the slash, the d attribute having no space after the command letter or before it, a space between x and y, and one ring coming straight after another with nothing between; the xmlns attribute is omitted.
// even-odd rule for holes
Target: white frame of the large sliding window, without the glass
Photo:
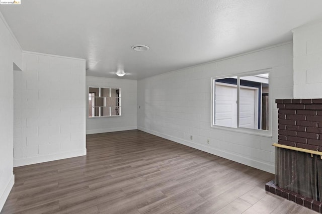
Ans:
<svg viewBox="0 0 322 214"><path fill-rule="evenodd" d="M237 73L237 74L230 74L230 75L223 75L223 76L215 76L211 77L211 88L210 88L210 94L211 94L211 100L210 100L210 127L213 129L220 129L225 131L233 131L233 132L240 132L240 133L246 133L246 134L252 134L252 135L259 135L259 136L265 136L265 137L272 137L272 107L273 107L273 97L272 97L272 87L269 86L269 117L268 117L268 124L269 124L269 130L261 130L261 129L249 129L249 128L243 128L239 127L239 83L240 83L240 77L244 76L253 76L253 75L259 75L268 73L269 74L269 85L271 85L271 68L262 69L262 70L256 70L256 71L250 71L250 72L244 72L244 73ZM229 77L237 77L237 128L234 127L225 127L225 126L219 126L214 125L214 114L215 114L215 85L214 82L216 79L223 79L223 78L229 78Z"/></svg>

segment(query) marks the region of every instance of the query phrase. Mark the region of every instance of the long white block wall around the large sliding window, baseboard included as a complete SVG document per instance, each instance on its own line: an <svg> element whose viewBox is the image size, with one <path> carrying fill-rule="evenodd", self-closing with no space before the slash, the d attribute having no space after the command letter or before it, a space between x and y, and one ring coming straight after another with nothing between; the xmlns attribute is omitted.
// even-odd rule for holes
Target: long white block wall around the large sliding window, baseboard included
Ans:
<svg viewBox="0 0 322 214"><path fill-rule="evenodd" d="M291 43L282 44L139 80L138 129L274 173L275 99L293 97L292 49ZM271 68L273 137L210 128L210 78L266 68Z"/></svg>

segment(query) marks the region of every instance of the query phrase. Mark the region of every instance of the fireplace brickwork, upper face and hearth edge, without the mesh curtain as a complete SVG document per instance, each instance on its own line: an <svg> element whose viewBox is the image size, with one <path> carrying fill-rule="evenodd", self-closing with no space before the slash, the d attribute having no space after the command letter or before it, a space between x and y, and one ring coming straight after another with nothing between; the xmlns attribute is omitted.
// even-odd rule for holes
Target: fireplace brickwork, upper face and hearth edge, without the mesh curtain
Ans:
<svg viewBox="0 0 322 214"><path fill-rule="evenodd" d="M322 151L322 99L276 99L278 143ZM270 181L266 191L321 213L322 202L283 189Z"/></svg>

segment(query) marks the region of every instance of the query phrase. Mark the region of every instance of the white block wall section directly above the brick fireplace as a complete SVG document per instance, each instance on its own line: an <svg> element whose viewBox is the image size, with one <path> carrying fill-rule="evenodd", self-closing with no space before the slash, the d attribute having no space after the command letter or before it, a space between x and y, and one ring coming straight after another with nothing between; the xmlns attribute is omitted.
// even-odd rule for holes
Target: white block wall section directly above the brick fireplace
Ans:
<svg viewBox="0 0 322 214"><path fill-rule="evenodd" d="M322 21L293 30L294 98L322 97Z"/></svg>

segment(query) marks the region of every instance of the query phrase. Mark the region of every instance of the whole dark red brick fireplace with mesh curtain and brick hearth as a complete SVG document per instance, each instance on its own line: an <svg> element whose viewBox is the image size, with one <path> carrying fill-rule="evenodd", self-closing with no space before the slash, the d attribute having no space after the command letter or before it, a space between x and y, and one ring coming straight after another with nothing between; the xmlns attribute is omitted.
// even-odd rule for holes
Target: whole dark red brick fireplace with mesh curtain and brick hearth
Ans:
<svg viewBox="0 0 322 214"><path fill-rule="evenodd" d="M276 103L278 144L322 151L322 99L277 99ZM268 182L266 190L321 212L321 159L320 155L276 148L275 182Z"/></svg>

